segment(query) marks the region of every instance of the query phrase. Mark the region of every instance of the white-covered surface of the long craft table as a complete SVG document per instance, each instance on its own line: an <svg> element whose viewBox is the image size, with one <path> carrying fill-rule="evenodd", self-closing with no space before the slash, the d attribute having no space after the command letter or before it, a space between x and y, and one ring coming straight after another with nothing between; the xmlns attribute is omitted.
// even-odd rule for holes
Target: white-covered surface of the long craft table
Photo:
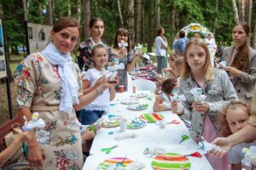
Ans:
<svg viewBox="0 0 256 170"><path fill-rule="evenodd" d="M125 92L116 94L115 99L111 102L110 111L108 113L116 116L124 116L125 118L132 118L141 116L144 113L153 112L154 93L148 93L147 98L138 99L141 103L148 104L148 108L143 111L131 111L127 109L127 105L120 103L122 99L131 97L131 93ZM154 169L151 167L153 157L146 156L143 151L146 148L164 148L167 153L177 153L181 155L191 154L199 148L193 139L189 139L179 144L183 135L189 135L188 128L172 111L158 112L164 116L164 122L172 122L177 120L180 124L165 124L166 127L161 128L158 123L148 123L145 127L137 129L126 129L125 133L136 133L137 137L134 139L115 140L119 135L125 134L120 132L120 127L102 128L96 133L96 137L90 149L90 156L87 157L83 170L95 170L99 164L113 157L127 157L133 161L141 161L144 164L145 170ZM106 116L108 116L106 115ZM105 154L101 151L102 148L112 147L117 144L110 154ZM191 161L192 170L211 170L212 167L205 156L202 157L188 157Z"/></svg>

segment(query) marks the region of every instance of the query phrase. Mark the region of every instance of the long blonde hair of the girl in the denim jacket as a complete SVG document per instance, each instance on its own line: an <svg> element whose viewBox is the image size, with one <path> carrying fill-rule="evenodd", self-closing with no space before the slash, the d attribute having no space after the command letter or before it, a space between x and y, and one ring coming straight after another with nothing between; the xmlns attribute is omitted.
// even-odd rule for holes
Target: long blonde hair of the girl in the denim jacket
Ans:
<svg viewBox="0 0 256 170"><path fill-rule="evenodd" d="M187 55L188 55L188 49L191 45L197 45L201 48L204 48L205 52L206 52L206 63L203 67L203 72L205 74L205 78L207 81L212 81L214 78L213 75L213 71L212 71L212 67L211 67L211 59L210 59L210 54L209 54L209 50L207 48L207 44L206 42L204 42L201 38L191 38L189 40L189 42L186 45L185 48L185 53L184 53L184 57L183 57L183 67L182 67L182 71L181 71L181 78L183 80L187 79L190 74L191 74L191 68L187 62Z"/></svg>

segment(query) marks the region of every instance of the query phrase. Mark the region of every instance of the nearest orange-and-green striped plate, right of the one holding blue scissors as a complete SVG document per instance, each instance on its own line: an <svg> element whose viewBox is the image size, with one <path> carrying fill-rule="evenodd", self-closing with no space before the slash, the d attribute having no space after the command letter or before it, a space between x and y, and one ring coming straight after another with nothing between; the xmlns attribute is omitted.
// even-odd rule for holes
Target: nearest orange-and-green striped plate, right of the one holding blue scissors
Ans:
<svg viewBox="0 0 256 170"><path fill-rule="evenodd" d="M151 166L155 170L188 170L191 167L191 161L185 156L176 153L166 153L164 155L155 156L151 161Z"/></svg>

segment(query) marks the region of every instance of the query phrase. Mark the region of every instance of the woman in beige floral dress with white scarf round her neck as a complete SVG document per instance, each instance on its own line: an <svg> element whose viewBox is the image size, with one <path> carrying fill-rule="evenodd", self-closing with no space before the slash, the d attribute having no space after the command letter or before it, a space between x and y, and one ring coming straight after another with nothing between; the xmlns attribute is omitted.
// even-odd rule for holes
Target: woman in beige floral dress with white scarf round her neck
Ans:
<svg viewBox="0 0 256 170"><path fill-rule="evenodd" d="M82 169L82 140L75 110L113 86L106 80L90 94L81 95L82 76L70 55L79 34L76 20L58 20L47 47L27 56L15 72L20 120L24 116L31 120L32 112L37 111L46 124L36 129L27 143L31 168Z"/></svg>

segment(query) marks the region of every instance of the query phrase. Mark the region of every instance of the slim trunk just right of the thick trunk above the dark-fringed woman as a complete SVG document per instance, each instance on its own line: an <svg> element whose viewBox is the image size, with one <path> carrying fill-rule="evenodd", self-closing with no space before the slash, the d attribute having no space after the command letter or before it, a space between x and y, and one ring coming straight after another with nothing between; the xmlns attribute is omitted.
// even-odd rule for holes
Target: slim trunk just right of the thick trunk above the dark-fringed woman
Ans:
<svg viewBox="0 0 256 170"><path fill-rule="evenodd" d="M142 22L142 0L137 0L137 27L136 27L136 42L141 43L141 25Z"/></svg>

